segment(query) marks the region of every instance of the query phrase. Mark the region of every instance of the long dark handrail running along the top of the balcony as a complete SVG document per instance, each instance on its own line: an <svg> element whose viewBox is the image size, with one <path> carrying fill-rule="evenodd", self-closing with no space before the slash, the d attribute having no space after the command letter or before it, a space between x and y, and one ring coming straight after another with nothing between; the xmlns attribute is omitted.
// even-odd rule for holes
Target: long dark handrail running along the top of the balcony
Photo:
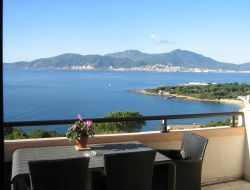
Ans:
<svg viewBox="0 0 250 190"><path fill-rule="evenodd" d="M146 121L146 120L170 120L170 119L188 119L203 117L223 117L223 116L243 116L243 112L219 112L219 113L199 113L199 114L179 114L179 115L156 115L140 117L116 117L116 118L87 118L83 120L92 120L94 123L103 122L124 122L124 121ZM76 119L67 120L40 120L40 121L14 121L4 122L4 127L26 127L26 126L43 126L43 125L64 125L72 124Z"/></svg>

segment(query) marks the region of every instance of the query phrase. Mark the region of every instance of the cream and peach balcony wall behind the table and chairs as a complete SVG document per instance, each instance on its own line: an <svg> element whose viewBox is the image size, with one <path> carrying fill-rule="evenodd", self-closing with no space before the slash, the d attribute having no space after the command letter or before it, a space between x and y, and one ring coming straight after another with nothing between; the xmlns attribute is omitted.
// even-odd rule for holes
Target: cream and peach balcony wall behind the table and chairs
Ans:
<svg viewBox="0 0 250 190"><path fill-rule="evenodd" d="M232 116L234 120L234 114ZM177 116L166 117L164 119L169 120L175 119L176 117ZM191 116L183 115L183 118L189 117ZM198 115L192 115L192 117L198 117ZM156 116L156 118L150 117L147 119L157 120L162 118L158 118L158 116ZM237 127L221 126L216 128L189 129L193 133L199 134L209 139L202 168L203 190L250 189L250 140L248 140L250 135L250 111L244 112L244 120L245 122L243 123L245 123L245 126L243 124L243 126ZM99 119L99 122L103 121ZM46 124L46 122L44 124ZM34 123L31 123L30 125L34 125ZM153 149L178 149L181 145L182 133L183 130L171 130L167 133L140 132L96 135L95 137L89 139L89 143L99 144L140 141ZM17 149L65 145L70 145L70 143L68 139L64 137L6 140L4 143L5 161L9 166L8 168L10 171L12 155Z"/></svg>

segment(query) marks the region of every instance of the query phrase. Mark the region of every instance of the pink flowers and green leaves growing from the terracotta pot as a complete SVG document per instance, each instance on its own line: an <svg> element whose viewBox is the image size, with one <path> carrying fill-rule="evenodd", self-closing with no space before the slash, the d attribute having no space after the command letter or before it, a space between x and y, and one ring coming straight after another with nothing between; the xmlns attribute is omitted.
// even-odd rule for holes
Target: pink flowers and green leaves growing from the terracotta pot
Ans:
<svg viewBox="0 0 250 190"><path fill-rule="evenodd" d="M69 140L80 140L82 137L94 136L94 130L91 127L93 121L84 121L80 114L78 120L68 129L66 137Z"/></svg>

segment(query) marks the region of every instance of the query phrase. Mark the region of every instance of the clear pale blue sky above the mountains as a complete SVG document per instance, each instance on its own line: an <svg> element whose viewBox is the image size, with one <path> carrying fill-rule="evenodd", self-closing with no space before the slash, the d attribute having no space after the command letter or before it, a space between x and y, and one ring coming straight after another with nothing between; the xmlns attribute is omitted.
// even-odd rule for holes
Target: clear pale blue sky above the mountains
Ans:
<svg viewBox="0 0 250 190"><path fill-rule="evenodd" d="M249 0L4 0L4 62L193 51L250 62Z"/></svg>

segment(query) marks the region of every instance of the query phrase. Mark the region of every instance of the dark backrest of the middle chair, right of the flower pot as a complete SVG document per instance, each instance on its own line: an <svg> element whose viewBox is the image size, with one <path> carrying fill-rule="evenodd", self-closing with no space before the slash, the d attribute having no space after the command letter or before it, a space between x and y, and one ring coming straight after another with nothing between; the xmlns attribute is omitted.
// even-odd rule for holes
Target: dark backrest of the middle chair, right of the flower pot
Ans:
<svg viewBox="0 0 250 190"><path fill-rule="evenodd" d="M104 155L107 190L151 190L154 150Z"/></svg>

